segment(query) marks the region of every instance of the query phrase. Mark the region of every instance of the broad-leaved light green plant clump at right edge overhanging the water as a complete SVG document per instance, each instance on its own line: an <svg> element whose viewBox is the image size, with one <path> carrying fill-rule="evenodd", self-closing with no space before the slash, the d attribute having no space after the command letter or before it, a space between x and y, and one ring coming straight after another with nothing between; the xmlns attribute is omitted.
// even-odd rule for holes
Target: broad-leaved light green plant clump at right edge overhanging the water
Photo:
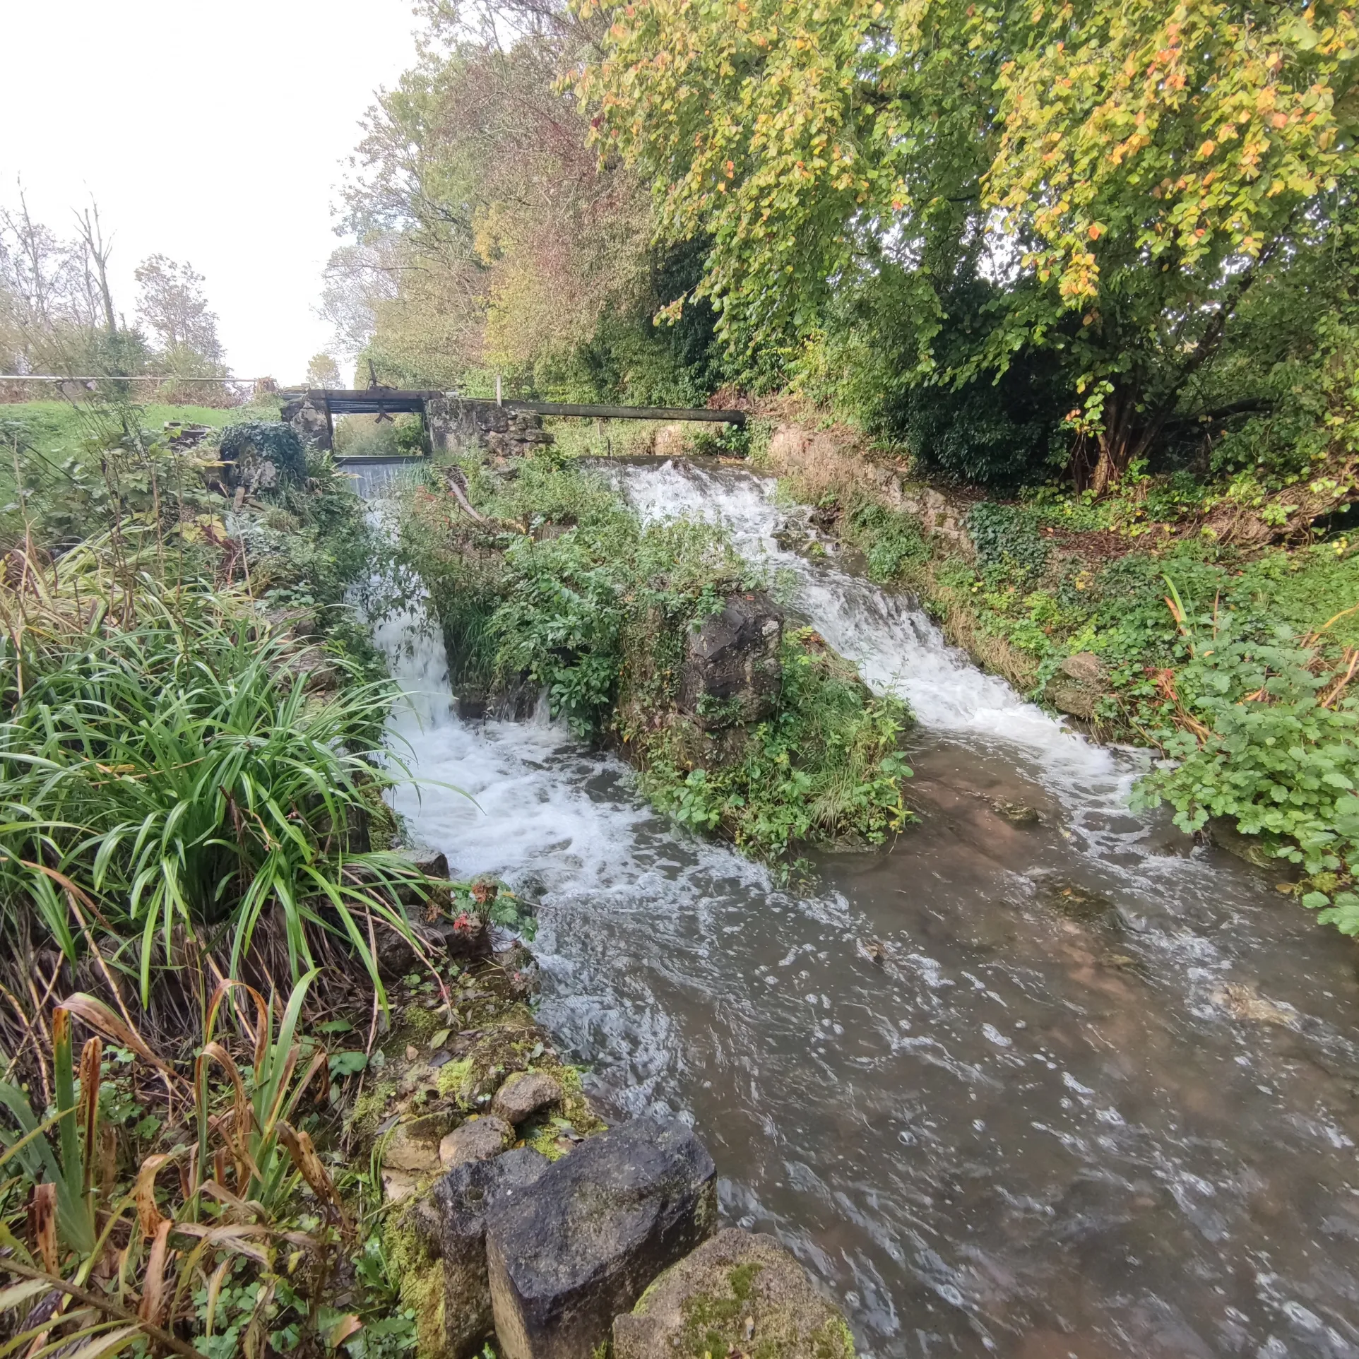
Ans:
<svg viewBox="0 0 1359 1359"><path fill-rule="evenodd" d="M1188 832L1231 817L1302 867L1305 906L1359 935L1359 700L1345 693L1359 651L1336 665L1321 646L1341 616L1303 637L1284 625L1260 637L1233 612L1188 617L1167 584L1189 647L1166 680L1180 727L1163 745L1178 764L1142 780L1139 805L1169 802Z"/></svg>

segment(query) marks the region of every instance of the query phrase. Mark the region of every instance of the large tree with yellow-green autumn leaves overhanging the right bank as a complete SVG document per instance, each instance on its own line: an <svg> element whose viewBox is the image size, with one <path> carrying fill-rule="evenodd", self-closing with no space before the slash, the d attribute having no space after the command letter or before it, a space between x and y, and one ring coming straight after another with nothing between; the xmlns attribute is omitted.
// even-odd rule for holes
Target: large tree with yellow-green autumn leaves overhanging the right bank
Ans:
<svg viewBox="0 0 1359 1359"><path fill-rule="evenodd" d="M1352 193L1359 34L1335 4L602 14L605 54L578 77L597 140L654 183L666 236L711 241L696 295L747 368L792 363L847 298L896 280L908 381L961 389L1049 355L1097 488ZM950 296L978 280L959 328Z"/></svg>

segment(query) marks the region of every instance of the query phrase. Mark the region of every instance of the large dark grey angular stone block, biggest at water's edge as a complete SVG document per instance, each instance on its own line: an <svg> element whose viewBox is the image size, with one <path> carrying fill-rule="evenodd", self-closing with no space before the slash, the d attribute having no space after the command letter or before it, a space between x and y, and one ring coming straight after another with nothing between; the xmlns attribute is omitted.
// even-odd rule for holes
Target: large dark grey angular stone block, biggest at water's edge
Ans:
<svg viewBox="0 0 1359 1359"><path fill-rule="evenodd" d="M637 1118L578 1147L487 1219L506 1359L590 1359L613 1318L716 1226L716 1170L681 1123Z"/></svg>

